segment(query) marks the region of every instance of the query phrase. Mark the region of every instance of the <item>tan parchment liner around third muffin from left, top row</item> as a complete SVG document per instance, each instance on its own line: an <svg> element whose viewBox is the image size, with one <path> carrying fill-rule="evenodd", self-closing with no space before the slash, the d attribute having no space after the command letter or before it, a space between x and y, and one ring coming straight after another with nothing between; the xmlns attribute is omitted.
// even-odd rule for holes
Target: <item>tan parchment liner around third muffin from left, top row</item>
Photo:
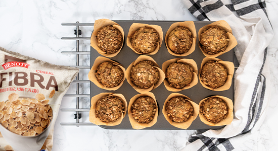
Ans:
<svg viewBox="0 0 278 151"><path fill-rule="evenodd" d="M171 33L172 30L174 30L176 27L179 27L179 26L183 26L183 27L188 28L189 31L192 33L192 36L193 36L191 48L189 49L188 52L182 53L182 54L176 54L176 53L174 53L174 52L168 47L168 36L169 36L169 34ZM173 24L169 27L168 31L166 32L166 35L165 35L165 44L166 44L166 47L167 47L167 49L168 49L168 52L169 52L171 55L174 55L174 56L187 56L187 55L190 55L192 52L194 52L194 50L195 50L195 45L196 45L196 39L197 39L197 33L196 33L195 24L194 24L193 21L177 22L177 23L173 23Z"/></svg>

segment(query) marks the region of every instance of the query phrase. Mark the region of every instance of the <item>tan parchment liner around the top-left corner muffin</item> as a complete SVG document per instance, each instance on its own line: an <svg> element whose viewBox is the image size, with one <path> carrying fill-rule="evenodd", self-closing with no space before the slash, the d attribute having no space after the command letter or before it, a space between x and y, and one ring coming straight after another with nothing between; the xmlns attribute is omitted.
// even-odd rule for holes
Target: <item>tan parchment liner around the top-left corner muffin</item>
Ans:
<svg viewBox="0 0 278 151"><path fill-rule="evenodd" d="M98 35L99 30L102 27L107 26L107 25L112 25L114 28L118 29L122 33L123 42L124 42L124 32L123 32L122 27L119 24L117 24L109 19L99 19L99 20L95 21L94 31L91 34L90 46L93 47L94 49L96 49L101 55L111 58L111 57L116 56L121 51L121 49L123 47L123 43L122 43L121 48L116 53L113 53L113 54L107 54L106 52L104 52L100 49L100 47L98 46L98 43L97 43L96 36Z"/></svg>

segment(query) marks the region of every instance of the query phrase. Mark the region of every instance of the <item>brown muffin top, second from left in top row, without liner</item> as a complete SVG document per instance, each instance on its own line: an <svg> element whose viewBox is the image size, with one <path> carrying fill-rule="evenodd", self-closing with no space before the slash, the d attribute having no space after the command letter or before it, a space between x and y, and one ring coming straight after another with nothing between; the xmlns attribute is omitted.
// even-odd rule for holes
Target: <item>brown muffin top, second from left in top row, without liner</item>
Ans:
<svg viewBox="0 0 278 151"><path fill-rule="evenodd" d="M144 54L153 52L158 47L159 42L158 33L150 27L141 27L131 37L132 47L137 52Z"/></svg>

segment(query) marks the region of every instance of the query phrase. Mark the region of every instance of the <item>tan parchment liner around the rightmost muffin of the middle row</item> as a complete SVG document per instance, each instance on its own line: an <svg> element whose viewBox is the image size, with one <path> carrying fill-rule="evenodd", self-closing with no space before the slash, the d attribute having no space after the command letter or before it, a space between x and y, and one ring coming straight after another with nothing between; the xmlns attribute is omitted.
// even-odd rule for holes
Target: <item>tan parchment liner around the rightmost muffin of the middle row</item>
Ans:
<svg viewBox="0 0 278 151"><path fill-rule="evenodd" d="M225 84L223 86L219 87L219 88L216 88L216 89L206 86L201 80L202 67L210 60L216 61L216 63L221 63L227 69L227 80L226 80ZM234 65L233 62L222 61L218 58L205 57L202 61L202 64L201 64L201 67L200 67L200 70L199 70L199 80L200 80L200 83L202 84L202 86L206 89L209 89L209 90L212 90L212 91L225 91L225 90L228 90L230 88L231 82L233 82L232 78L233 78L234 72L235 72L235 65Z"/></svg>

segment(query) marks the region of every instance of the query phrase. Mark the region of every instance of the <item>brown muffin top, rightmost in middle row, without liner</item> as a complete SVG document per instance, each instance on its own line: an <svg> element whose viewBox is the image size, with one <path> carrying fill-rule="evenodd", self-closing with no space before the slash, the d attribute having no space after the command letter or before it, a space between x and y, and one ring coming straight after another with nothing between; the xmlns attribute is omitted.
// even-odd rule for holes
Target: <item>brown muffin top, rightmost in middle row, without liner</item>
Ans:
<svg viewBox="0 0 278 151"><path fill-rule="evenodd" d="M219 88L227 80L227 69L216 61L208 61L201 70L201 81L210 88Z"/></svg>

